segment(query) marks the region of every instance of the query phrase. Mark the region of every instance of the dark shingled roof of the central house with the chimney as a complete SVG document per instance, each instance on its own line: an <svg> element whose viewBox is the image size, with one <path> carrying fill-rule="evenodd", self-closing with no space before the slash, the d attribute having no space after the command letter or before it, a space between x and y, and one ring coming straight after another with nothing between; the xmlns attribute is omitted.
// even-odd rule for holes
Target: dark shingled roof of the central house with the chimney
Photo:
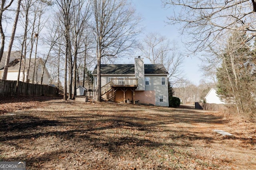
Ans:
<svg viewBox="0 0 256 170"><path fill-rule="evenodd" d="M134 64L101 64L101 74L134 74ZM97 65L92 74L97 74ZM144 74L168 74L163 64L144 64Z"/></svg>

